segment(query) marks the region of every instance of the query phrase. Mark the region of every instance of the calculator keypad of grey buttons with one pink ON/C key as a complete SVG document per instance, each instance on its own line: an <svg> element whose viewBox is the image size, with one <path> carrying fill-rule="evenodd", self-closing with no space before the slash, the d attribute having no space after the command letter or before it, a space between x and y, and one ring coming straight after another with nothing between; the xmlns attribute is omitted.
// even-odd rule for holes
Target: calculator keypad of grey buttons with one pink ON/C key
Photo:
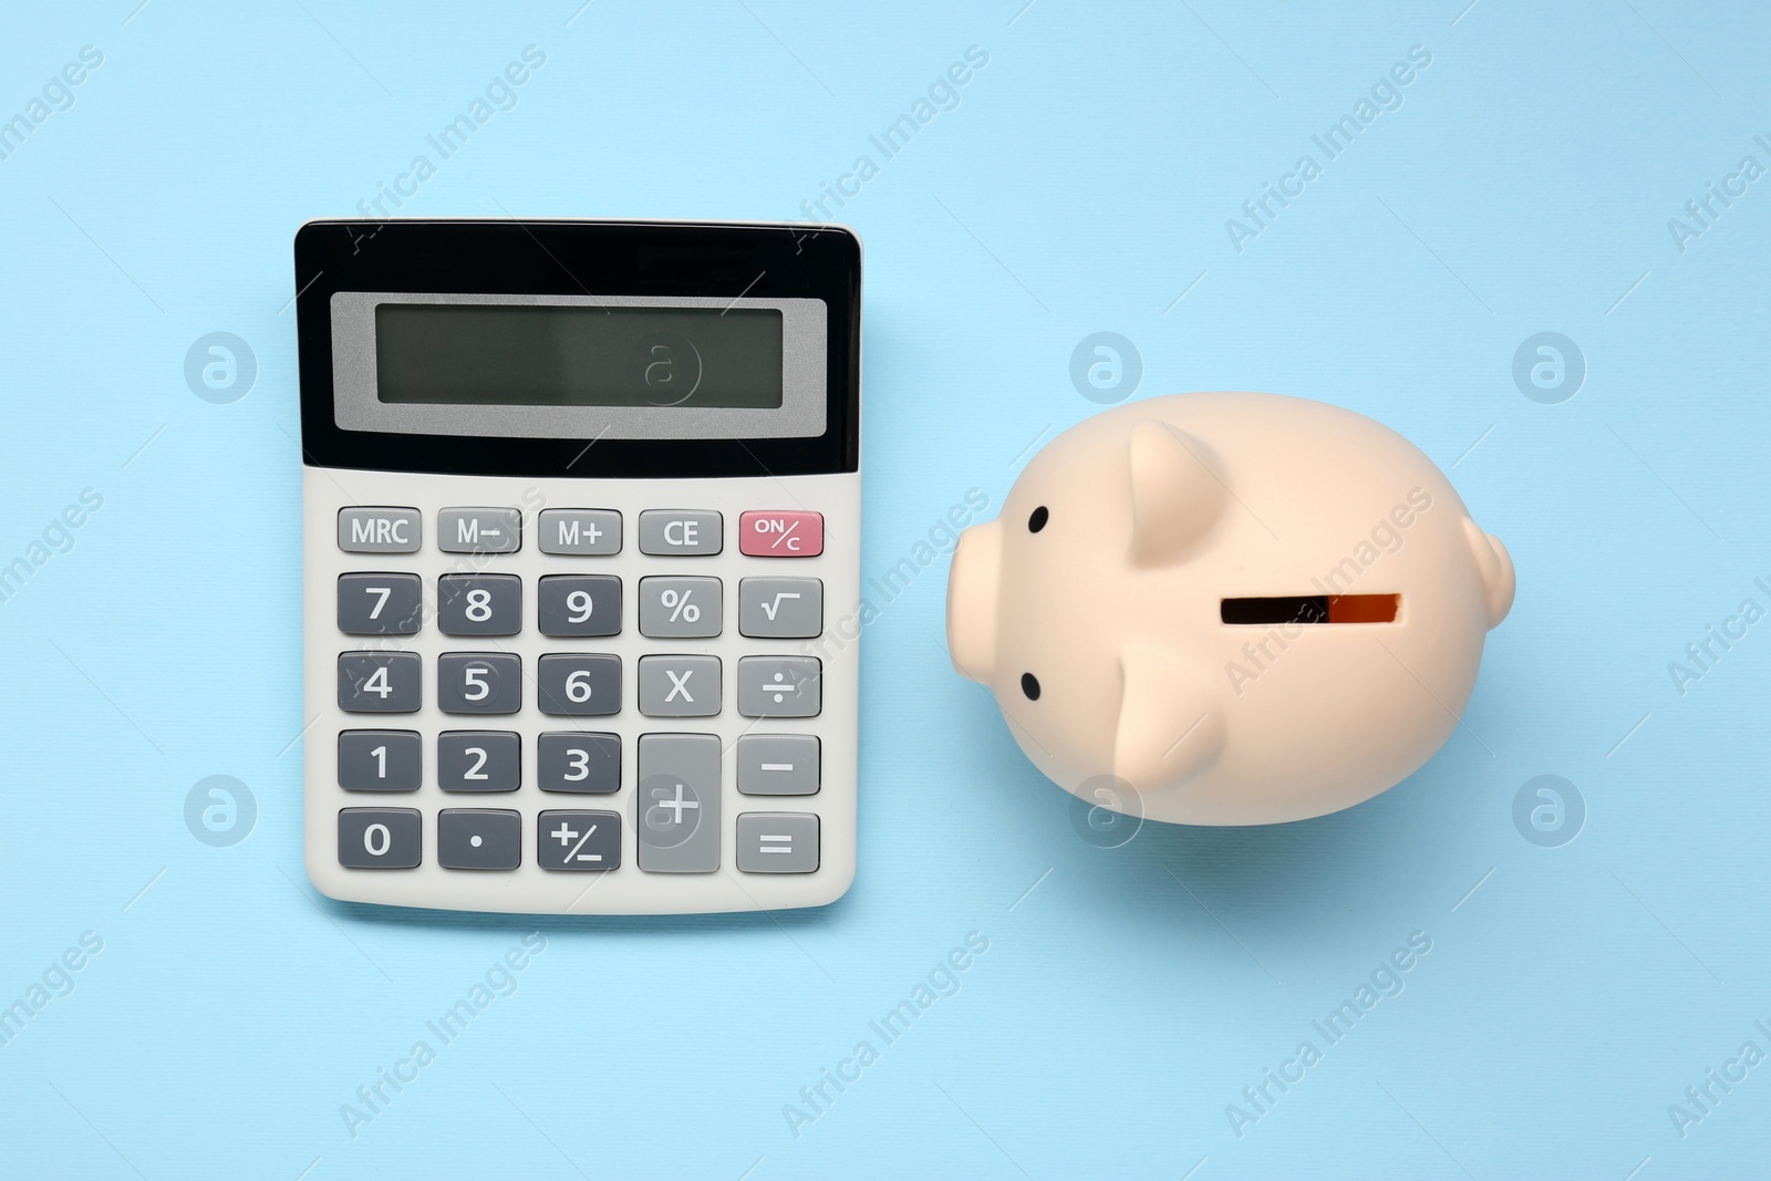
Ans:
<svg viewBox="0 0 1771 1181"><path fill-rule="evenodd" d="M537 512L531 545L549 561L545 572L522 565L531 575L522 577L505 572L510 567L499 570L498 563L498 556L522 549L521 510L443 508L436 512L432 547L471 556L453 560L453 570L432 575L349 570L338 575L342 636L409 637L434 627L434 636L448 637L434 659L375 650L375 641L363 641L363 650L340 652L340 710L416 714L425 706L425 692L434 692L436 710L445 715L512 719L482 722L494 726L489 729L473 729L473 722L429 733L372 726L340 729L340 788L397 793L434 784L455 802L464 802L460 795L468 793L503 795L510 802L526 799L528 791L611 797L607 809L542 809L530 813L533 822L524 820L526 809L515 807L439 807L434 827L420 809L344 807L338 811L340 866L416 868L425 861L429 836L434 862L443 869L517 871L524 864L524 843L533 839L530 871L607 873L622 868L625 822L634 827L636 866L629 873L715 873L723 868L723 839L724 855L733 859L726 869L818 871L818 813L723 816L721 772L730 758L740 795L781 802L800 797L802 806L815 804L811 797L822 788L820 737L758 731L756 721L746 721L747 731L735 740L687 731L696 724L692 719L820 715L822 660L799 653L813 652L809 645L783 652L785 645L767 641L824 636L824 581L772 575L767 570L788 567L763 561L754 563L763 574L747 577L698 574L696 563L673 568L668 560L724 551L723 513L659 508L634 517L638 552L620 558L620 565L599 568L593 560L623 552L620 512ZM351 554L420 552L425 524L413 508L345 508L338 515L338 547ZM746 512L739 529L737 549L746 563L824 552L824 519L816 512ZM528 600L531 588L533 602ZM731 616L726 614L728 590L737 600ZM625 616L627 597L634 598L630 618ZM522 646L530 655L498 650L496 641L522 636L526 629L561 641L553 645L558 650L533 653ZM595 643L583 643L620 637L625 629L661 643L646 643L639 653L632 652L632 639L622 641L620 653L595 652ZM728 629L731 636L721 643L733 646L730 660L703 645L682 643L715 641L728 636ZM480 650L452 650L455 639L492 643L462 645ZM744 643L751 639L765 643ZM629 676L632 689L623 683ZM429 689L427 680L434 680ZM613 731L572 729L570 721L554 721L545 729L517 721L517 715L597 719L625 710L646 719L639 722L643 733L623 738ZM510 728L498 729L499 724ZM526 751L528 742L535 745ZM632 760L630 797L622 797L625 758Z"/></svg>

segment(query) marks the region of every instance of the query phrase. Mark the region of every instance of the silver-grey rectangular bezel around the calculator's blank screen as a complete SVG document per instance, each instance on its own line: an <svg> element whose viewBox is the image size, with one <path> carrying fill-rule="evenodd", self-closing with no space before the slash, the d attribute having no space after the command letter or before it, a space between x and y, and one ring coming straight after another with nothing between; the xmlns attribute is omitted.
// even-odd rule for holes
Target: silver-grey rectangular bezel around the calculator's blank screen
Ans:
<svg viewBox="0 0 1771 1181"><path fill-rule="evenodd" d="M772 308L781 312L779 407L677 405L443 405L375 397L375 308L407 305L528 305L595 308ZM340 290L331 297L333 420L344 430L496 436L512 439L793 439L825 430L822 299L707 296L544 296Z"/></svg>

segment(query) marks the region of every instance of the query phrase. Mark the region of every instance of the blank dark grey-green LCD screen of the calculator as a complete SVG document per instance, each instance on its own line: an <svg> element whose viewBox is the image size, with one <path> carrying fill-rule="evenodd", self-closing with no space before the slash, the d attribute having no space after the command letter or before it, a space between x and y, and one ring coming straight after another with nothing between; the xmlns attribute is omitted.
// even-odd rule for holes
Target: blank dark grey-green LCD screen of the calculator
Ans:
<svg viewBox="0 0 1771 1181"><path fill-rule="evenodd" d="M776 308L375 308L381 402L779 409L781 395Z"/></svg>

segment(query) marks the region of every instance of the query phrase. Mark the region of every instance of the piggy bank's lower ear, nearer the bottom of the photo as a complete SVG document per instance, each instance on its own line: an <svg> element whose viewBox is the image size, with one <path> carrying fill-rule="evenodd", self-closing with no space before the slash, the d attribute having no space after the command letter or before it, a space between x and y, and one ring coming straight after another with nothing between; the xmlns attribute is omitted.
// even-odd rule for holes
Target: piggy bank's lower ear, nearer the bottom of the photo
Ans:
<svg viewBox="0 0 1771 1181"><path fill-rule="evenodd" d="M1142 793L1194 779L1224 753L1224 703L1172 652L1139 645L1119 655L1123 692L1112 774Z"/></svg>

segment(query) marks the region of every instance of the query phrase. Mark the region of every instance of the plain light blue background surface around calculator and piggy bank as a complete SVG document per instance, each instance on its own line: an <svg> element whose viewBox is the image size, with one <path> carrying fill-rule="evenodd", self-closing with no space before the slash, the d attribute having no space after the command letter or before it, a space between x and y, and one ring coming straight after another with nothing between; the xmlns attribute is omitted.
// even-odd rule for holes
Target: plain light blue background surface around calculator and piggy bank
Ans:
<svg viewBox="0 0 1771 1181"><path fill-rule="evenodd" d="M1684 253L1667 221L1771 163L1771 19L1022 2L7 12L0 117L80 46L104 64L0 161L0 563L81 489L104 506L0 604L0 1004L81 931L104 949L0 1046L0 1172L1764 1172L1771 1064L1684 1139L1668 1105L1744 1041L1771 1052L1771 623L1684 696L1667 666L1771 606L1771 181ZM1118 331L1139 397L1316 397L1450 469L1520 572L1466 729L1339 816L1094 848L951 673L942 558L864 637L841 903L537 924L321 899L290 745L290 237L352 214L528 44L547 64L519 104L400 212L802 216L981 46L962 104L838 214L866 241L866 574L971 487L994 512L1031 444L1096 409L1075 343ZM1233 250L1226 218L1415 44L1404 104ZM259 361L230 405L182 377L218 329ZM1512 382L1537 331L1587 359L1560 405ZM186 830L213 774L257 799L232 848ZM1587 802L1560 848L1514 829L1539 774ZM347 1135L340 1105L537 928L517 992ZM795 1139L783 1105L969 931L990 949L960 992ZM1406 990L1238 1139L1226 1105L1411 931L1433 951Z"/></svg>

